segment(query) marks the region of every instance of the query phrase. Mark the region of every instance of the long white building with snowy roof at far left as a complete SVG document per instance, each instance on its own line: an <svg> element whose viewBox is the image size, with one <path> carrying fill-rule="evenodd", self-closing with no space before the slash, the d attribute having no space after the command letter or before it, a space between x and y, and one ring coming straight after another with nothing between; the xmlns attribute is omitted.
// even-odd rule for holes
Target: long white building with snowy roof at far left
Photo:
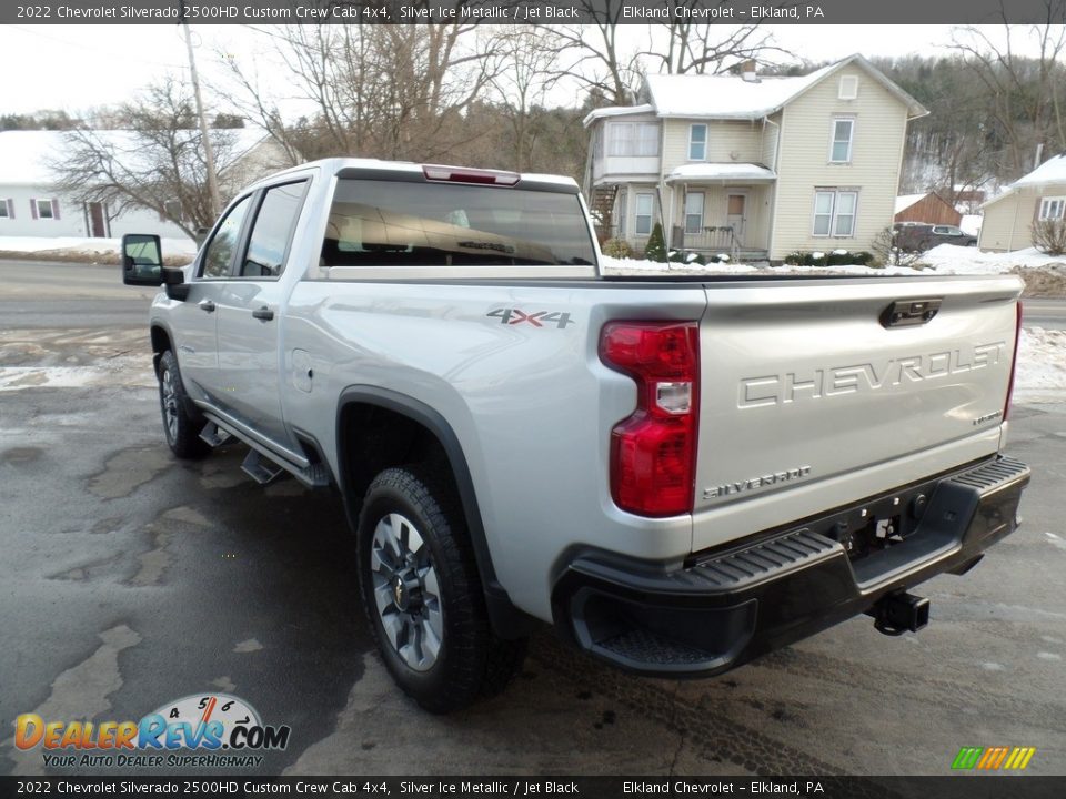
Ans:
<svg viewBox="0 0 1066 799"><path fill-rule="evenodd" d="M282 165L279 150L263 134L249 129L227 131L234 142L229 171L239 184ZM133 135L127 131L93 131L93 136L115 144L120 153L137 158ZM118 212L102 202L82 202L56 189L57 165L70 146L63 131L0 132L0 236L121 236L157 233L185 237L172 222L150 209ZM234 186L237 189L239 186Z"/></svg>

